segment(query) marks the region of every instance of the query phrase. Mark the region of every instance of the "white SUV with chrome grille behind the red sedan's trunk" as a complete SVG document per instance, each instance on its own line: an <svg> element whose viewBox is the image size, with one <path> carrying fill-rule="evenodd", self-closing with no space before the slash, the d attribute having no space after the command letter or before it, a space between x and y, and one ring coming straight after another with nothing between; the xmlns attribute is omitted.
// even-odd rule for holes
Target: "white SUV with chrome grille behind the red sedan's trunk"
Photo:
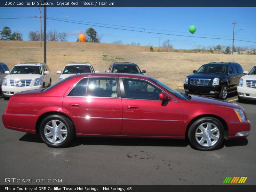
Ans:
<svg viewBox="0 0 256 192"><path fill-rule="evenodd" d="M32 89L49 87L52 78L49 67L45 63L19 63L4 77L2 91L4 100L8 100L14 93Z"/></svg>

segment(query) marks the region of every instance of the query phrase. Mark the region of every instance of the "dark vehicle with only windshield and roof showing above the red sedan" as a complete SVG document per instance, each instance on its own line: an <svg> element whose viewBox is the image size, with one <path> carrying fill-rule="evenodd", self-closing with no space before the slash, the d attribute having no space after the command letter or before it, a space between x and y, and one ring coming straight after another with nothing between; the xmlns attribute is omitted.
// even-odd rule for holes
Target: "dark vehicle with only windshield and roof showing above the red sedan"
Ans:
<svg viewBox="0 0 256 192"><path fill-rule="evenodd" d="M127 62L119 62L112 63L106 73L133 73L133 74L143 74L146 73L146 70L140 70L137 64L135 63L127 63Z"/></svg>

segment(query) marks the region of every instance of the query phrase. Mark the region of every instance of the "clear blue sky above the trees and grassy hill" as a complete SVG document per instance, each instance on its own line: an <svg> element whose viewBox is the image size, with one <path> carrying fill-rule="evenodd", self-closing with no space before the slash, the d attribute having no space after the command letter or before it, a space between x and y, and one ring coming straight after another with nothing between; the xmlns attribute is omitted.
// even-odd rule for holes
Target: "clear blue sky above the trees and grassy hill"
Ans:
<svg viewBox="0 0 256 192"><path fill-rule="evenodd" d="M34 16L39 16L38 7L0 8L0 18ZM195 49L199 45L208 48L208 46L216 46L218 44L232 47L232 40L186 36L232 39L233 25L231 23L233 23L233 21L237 22L235 25L235 32L244 28L244 30L240 30L235 35L235 39L256 42L255 7L49 7L47 8L47 17L101 23L92 25L113 28L185 35L172 36L151 34L96 27L90 25L90 23L87 23L88 25L82 25L47 20L47 31L55 29L58 32L67 32L68 41L73 42L76 41L80 32L84 32L87 28L92 27L100 36L102 35L102 43L112 43L121 40L124 44L135 42L140 43L141 45L150 44L154 47L158 47L160 37L160 45L162 45L163 41L169 39L176 49ZM188 31L190 25L196 26L196 32L193 35ZM28 40L29 31L39 30L40 22L39 18L0 19L0 30L5 26L10 27L12 32L15 32L17 29L22 33L23 39ZM248 46L256 48L256 43L252 42L235 41L234 45L235 47Z"/></svg>

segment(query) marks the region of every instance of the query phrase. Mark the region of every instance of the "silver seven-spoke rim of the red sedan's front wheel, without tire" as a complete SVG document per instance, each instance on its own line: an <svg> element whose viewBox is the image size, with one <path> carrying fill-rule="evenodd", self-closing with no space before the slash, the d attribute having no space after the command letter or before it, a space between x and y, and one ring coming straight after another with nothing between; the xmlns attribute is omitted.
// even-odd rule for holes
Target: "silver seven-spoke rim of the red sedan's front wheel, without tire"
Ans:
<svg viewBox="0 0 256 192"><path fill-rule="evenodd" d="M206 122L197 127L195 136L201 146L210 147L219 140L220 130L216 124Z"/></svg>

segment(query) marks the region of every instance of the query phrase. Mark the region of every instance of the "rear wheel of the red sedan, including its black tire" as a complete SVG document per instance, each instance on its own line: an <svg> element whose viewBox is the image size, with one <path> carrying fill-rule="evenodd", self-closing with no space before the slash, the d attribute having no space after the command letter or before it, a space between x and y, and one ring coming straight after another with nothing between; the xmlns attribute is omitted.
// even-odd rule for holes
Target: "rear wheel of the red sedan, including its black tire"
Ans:
<svg viewBox="0 0 256 192"><path fill-rule="evenodd" d="M75 126L73 122L65 116L50 115L45 117L41 122L39 131L41 139L48 147L62 148L67 146L74 138ZM46 137L47 134L48 136Z"/></svg>

